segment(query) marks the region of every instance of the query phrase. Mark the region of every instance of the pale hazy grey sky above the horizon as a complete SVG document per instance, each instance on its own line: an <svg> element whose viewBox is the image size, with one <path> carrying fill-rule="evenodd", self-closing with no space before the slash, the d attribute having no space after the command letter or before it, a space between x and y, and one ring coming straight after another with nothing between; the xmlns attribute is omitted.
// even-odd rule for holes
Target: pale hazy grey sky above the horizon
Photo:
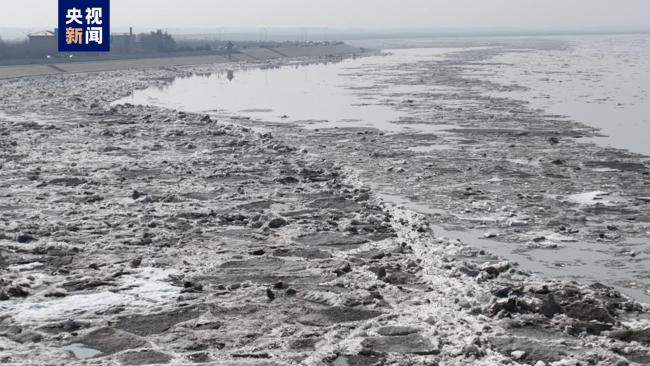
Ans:
<svg viewBox="0 0 650 366"><path fill-rule="evenodd" d="M650 28L650 0L111 0L112 26ZM1 27L54 27L57 0L0 0Z"/></svg>

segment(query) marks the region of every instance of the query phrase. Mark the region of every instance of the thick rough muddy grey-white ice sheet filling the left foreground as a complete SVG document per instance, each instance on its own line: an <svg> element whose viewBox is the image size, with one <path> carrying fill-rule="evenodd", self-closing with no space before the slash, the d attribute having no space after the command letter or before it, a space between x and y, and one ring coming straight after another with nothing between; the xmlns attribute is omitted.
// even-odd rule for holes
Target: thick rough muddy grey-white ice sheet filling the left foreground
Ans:
<svg viewBox="0 0 650 366"><path fill-rule="evenodd" d="M136 88L214 71L0 84L1 362L650 362L643 305L602 284L542 280L438 237L435 218L386 204L364 183L379 176L371 170L392 184L419 177L423 186L438 182L431 189L440 187L454 209L474 207L486 188L446 179L469 161L496 169L482 154L504 153L508 133L459 133L489 150L458 149L453 164L449 155L395 152L401 135L333 131L300 140L292 128L256 132L233 123L241 120L110 106ZM521 122L496 120L512 131ZM517 135L527 147L513 153L555 137L531 131ZM560 136L552 146L572 149ZM374 144L360 143L368 139ZM609 160L592 152L593 161ZM398 164L407 154L414 160ZM364 164L371 169L352 169ZM574 174L557 166L539 169ZM504 179L525 177L508 167ZM538 199L529 194L521 199ZM516 227L525 226L504 226L504 235L520 235Z"/></svg>

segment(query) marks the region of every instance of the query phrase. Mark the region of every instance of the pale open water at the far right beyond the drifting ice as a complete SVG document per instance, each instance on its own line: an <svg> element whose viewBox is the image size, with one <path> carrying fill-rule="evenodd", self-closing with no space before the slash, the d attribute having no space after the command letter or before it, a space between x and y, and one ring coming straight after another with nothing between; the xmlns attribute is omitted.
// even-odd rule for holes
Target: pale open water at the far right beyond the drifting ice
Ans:
<svg viewBox="0 0 650 366"><path fill-rule="evenodd" d="M597 127L600 145L650 156L650 35L558 39L570 47L505 53L480 77L527 87L502 96Z"/></svg>

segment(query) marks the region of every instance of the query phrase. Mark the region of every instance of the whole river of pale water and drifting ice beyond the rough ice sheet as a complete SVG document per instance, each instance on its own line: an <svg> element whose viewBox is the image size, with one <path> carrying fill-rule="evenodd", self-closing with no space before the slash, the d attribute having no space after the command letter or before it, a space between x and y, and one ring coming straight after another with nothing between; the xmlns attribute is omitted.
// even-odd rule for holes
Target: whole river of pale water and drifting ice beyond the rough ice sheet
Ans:
<svg viewBox="0 0 650 366"><path fill-rule="evenodd" d="M388 56L339 63L238 70L234 80L226 74L178 78L117 103L174 107L220 119L241 113L252 118L253 128L299 125L307 131L296 131L295 144L311 151L331 147L329 153L345 163L358 151L360 163L353 169L371 173L363 181L379 187L389 201L442 216L434 219L446 223L434 227L439 235L460 238L549 278L603 282L650 302L645 159L590 143L607 141L637 151L631 139L623 143L618 137L643 140L647 132L638 100L643 94L637 90L643 82L611 80L621 79L611 70L621 60L628 60L621 72L639 79L645 67L640 55L648 50L639 37L600 37L598 47L582 37L573 47L558 40L509 40L467 48L472 44L457 41L445 45L456 48L391 50ZM533 109L540 104L537 94L549 89L553 95L541 100L568 104L567 110L581 112L579 120L608 128L597 131ZM608 92L619 89L625 95ZM627 94L635 93L628 100ZM598 113L603 108L607 113ZM591 118L594 111L599 118ZM611 126L620 134L599 136L610 134ZM355 134L356 139L351 137ZM578 144L567 144L569 140ZM416 177L403 167L411 162L424 165ZM472 172L478 165L483 166ZM449 185L441 187L441 181ZM466 181L477 187L461 187ZM524 193L534 199L524 199ZM471 206L459 205L458 197ZM509 200L513 197L518 199ZM508 206L498 204L506 201ZM533 222L547 214L556 217L541 227ZM575 227L569 227L567 214L577 216ZM508 226L521 235L503 232ZM582 226L596 227L588 233Z"/></svg>

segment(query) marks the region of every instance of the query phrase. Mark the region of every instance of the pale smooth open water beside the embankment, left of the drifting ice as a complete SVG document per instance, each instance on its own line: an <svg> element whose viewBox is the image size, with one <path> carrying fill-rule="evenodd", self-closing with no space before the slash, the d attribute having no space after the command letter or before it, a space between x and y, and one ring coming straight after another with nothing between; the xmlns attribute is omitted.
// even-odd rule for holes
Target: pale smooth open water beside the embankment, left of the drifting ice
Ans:
<svg viewBox="0 0 650 366"><path fill-rule="evenodd" d="M154 105L196 113L247 116L268 122L302 122L309 128L375 127L401 131L404 116L364 89L376 82L365 70L440 58L457 49L397 50L390 56L337 63L268 66L210 76L178 78L163 88L136 91L116 103ZM387 86L386 86L387 87ZM398 90L398 89L395 89ZM401 87L398 91L405 91ZM411 125L418 130L431 126ZM427 131L431 132L431 131Z"/></svg>

